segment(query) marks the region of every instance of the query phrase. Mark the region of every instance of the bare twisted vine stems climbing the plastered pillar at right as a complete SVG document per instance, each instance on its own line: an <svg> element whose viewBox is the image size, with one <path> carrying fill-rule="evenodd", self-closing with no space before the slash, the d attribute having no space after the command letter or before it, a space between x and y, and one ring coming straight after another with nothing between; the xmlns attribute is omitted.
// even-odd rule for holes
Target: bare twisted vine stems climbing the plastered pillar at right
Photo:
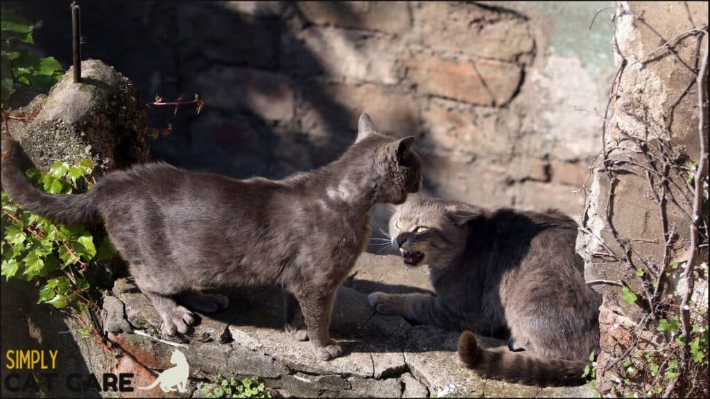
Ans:
<svg viewBox="0 0 710 399"><path fill-rule="evenodd" d="M601 13L601 11L608 9L608 7L599 10L594 18ZM630 358L635 354L634 349L638 345L638 337L641 330L648 329L649 323L654 326L657 324L658 319L667 317L670 319L671 315L679 315L682 324L682 336L685 337L685 341L679 346L674 346L675 343L667 338L664 340L667 342L665 346L661 343L650 342L652 348L648 351L653 351L659 353L662 350L667 350L669 346L674 346L679 348L681 352L682 364L679 367L678 373L670 378L670 383L665 386L663 396L667 397L671 395L674 388L677 386L679 381L686 381L687 376L683 376L683 370L686 370L689 365L689 339L692 334L692 315L691 307L692 304L692 294L694 290L694 268L697 263L699 263L699 249L707 246L708 241L708 224L704 220L703 215L704 209L704 185L707 182L707 167L708 167L708 148L706 148L706 143L708 141L708 122L707 122L707 110L708 110L708 99L707 99L707 87L706 87L706 77L708 75L708 41L705 40L704 51L701 54L701 43L703 38L708 39L708 28L706 25L696 26L692 22L692 16L690 16L690 11L686 4L686 9L688 11L688 18L691 21L693 28L688 31L684 31L675 35L670 40L666 40L663 35L657 31L648 21L645 20L643 13L637 13L626 9L623 6L617 6L616 16L612 16L612 21L615 26L613 31L613 47L618 56L616 70L616 75L613 78L613 83L611 85L611 95L606 104L606 109L602 115L594 110L594 114L599 116L603 120L602 126L602 151L597 155L601 156L601 160L596 165L590 167L590 170L598 170L598 173L603 173L608 177L609 187L608 187L608 197L606 198L606 212L601 212L598 216L604 222L604 228L598 234L595 234L587 226L588 222L588 212L587 209L584 210L581 219L580 230L587 236L594 238L596 244L599 245L603 251L599 252L597 250L587 250L590 256L602 259L607 262L616 262L623 266L626 266L633 274L638 278L640 287L643 289L643 300L639 297L636 300L636 304L642 307L644 310L643 317L641 321L636 325L636 332L632 333L633 344L626 347L623 350L621 356L616 357L616 359L611 359L608 361L603 369L602 375L606 371L620 364L627 358ZM658 48L651 50L646 53L643 57L638 58L634 64L645 65L650 62L655 62L665 57L670 57L672 60L682 68L682 70L687 70L692 76L687 86L684 88L680 96L675 99L669 109L669 114L664 115L665 123L661 124L663 126L655 126L658 124L653 124L647 115L636 115L630 111L622 109L616 106L615 99L617 98L617 91L619 85L621 84L622 77L626 67L630 66L629 60L623 55L621 48L618 44L618 39L616 36L616 23L619 17L630 16L633 18L634 22L638 22L641 25L648 28L657 38L660 39L662 43ZM592 21L594 23L594 20ZM591 26L590 26L591 28ZM679 57L677 52L677 46L684 43L688 38L696 38L697 46L695 48L695 59L694 62L684 62L682 58ZM702 56L701 56L702 55ZM696 168L688 168L682 163L682 158L676 151L670 146L670 128L672 124L672 118L674 110L682 102L682 100L687 97L688 94L692 93L692 88L697 88L697 109L699 114L698 122L698 138L699 138L699 159ZM624 116L630 120L635 121L639 126L643 126L645 129L645 137L635 136L630 134L619 126L618 122L613 121L610 116L611 109L613 108L614 113ZM589 111L588 111L589 112ZM609 139L608 132L614 129L619 138L615 138L613 141ZM649 261L647 258L641 256L638 251L634 249L634 243L638 241L648 242L645 239L633 239L628 238L620 234L613 224L613 201L614 201L614 190L618 184L618 174L628 174L631 173L635 176L641 177L648 182L648 187L650 188L650 197L658 206L658 215L661 223L662 236L663 236L663 254L660 261L652 259ZM688 180L686 184L685 177L692 174L693 179ZM591 176L591 173L590 173ZM589 181L589 178L588 178ZM678 182L681 182L679 184ZM586 201L586 183L581 187L580 191L585 192L585 203L589 207L589 202ZM673 209L689 224L690 229L690 242L689 242L689 253L684 258L684 271L680 276L681 283L679 285L684 286L684 292L681 293L682 301L680 305L673 305L672 303L664 300L663 295L667 293L670 286L670 278L667 277L668 271L670 269L670 263L672 263L673 253L677 252L680 246L683 244L688 244L679 242L677 239L677 226L669 223L669 218L667 211L669 207L672 206ZM613 242L613 245L608 244L604 241L602 233L608 233L609 239ZM660 241L660 240L659 240ZM614 248L614 249L612 249ZM625 288L630 290L629 285L623 279L619 280L591 280L587 282L590 285L603 284L617 286L620 288ZM672 290L672 287L670 288ZM655 327L654 327L655 328ZM675 341L677 342L677 341ZM678 350L678 349L675 349ZM637 350L638 351L638 350ZM667 365L667 361L670 359L671 354L663 354L662 366ZM660 380L660 375L656 375L653 380L653 385ZM682 383L686 384L687 382ZM659 392L660 393L660 392Z"/></svg>

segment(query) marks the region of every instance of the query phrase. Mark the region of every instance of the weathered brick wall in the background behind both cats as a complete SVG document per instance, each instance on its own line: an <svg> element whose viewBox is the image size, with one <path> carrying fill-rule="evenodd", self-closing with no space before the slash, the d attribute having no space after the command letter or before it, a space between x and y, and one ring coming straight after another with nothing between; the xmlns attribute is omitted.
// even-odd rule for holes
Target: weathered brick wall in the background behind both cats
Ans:
<svg viewBox="0 0 710 399"><path fill-rule="evenodd" d="M69 62L68 6L15 5L43 21L38 47ZM587 31L605 5L87 2L84 56L145 98L205 100L200 116L180 111L153 158L283 177L337 158L367 111L379 130L417 136L428 192L577 217L613 67L611 24Z"/></svg>

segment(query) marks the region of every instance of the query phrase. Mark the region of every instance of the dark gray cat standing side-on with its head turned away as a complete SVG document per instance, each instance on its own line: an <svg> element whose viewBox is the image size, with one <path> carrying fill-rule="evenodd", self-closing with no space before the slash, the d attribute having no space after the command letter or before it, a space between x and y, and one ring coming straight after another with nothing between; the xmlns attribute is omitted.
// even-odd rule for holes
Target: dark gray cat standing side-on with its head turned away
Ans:
<svg viewBox="0 0 710 399"><path fill-rule="evenodd" d="M367 244L368 211L420 189L413 142L377 133L362 114L344 155L285 180L235 180L151 163L105 175L86 194L49 195L26 180L18 167L22 148L8 138L2 184L22 207L57 222L103 219L165 334L185 333L194 322L182 305L226 307L226 297L198 287L278 284L285 329L310 339L327 360L342 354L328 334L332 304Z"/></svg>

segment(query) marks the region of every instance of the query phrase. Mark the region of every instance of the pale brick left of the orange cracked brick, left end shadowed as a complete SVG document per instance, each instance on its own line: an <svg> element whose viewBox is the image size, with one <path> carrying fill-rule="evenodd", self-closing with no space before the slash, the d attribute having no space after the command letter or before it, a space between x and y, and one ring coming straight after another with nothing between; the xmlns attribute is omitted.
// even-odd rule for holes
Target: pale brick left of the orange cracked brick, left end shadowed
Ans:
<svg viewBox="0 0 710 399"><path fill-rule="evenodd" d="M285 35L282 43L283 66L296 75L381 84L403 77L402 44L381 33L315 26Z"/></svg>

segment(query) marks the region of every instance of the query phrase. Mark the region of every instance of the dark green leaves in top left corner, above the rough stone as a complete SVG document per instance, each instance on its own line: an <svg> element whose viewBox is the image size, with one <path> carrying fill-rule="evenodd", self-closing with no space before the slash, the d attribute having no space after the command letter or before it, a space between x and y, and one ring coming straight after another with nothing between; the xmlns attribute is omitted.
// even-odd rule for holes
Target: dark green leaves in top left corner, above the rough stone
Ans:
<svg viewBox="0 0 710 399"><path fill-rule="evenodd" d="M21 43L33 45L33 23L11 10L2 10L0 30L2 33L0 70L2 107L10 94L18 87L50 87L64 74L59 62L53 57L37 58Z"/></svg>

